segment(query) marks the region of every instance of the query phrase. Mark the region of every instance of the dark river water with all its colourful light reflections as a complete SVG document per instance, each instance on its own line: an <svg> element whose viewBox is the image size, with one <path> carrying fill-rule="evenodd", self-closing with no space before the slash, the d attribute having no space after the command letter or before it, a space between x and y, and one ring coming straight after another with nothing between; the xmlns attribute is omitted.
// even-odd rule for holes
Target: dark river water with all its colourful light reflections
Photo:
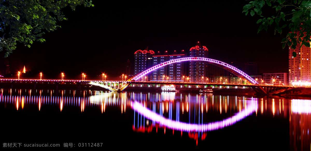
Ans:
<svg viewBox="0 0 311 151"><path fill-rule="evenodd" d="M310 111L308 98L0 89L2 148L310 150Z"/></svg>

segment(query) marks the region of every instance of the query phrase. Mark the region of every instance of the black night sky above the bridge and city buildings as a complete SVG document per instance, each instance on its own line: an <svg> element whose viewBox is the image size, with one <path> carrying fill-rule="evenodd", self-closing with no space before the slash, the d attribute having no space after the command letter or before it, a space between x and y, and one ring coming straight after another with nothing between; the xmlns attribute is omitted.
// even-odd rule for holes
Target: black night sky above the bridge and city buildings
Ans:
<svg viewBox="0 0 311 151"><path fill-rule="evenodd" d="M281 48L286 31L274 35L273 27L257 34L258 16L242 14L247 3L94 1L95 7L64 9L68 20L59 22L62 28L46 33L46 42L35 42L30 48L19 44L0 63L10 65L13 73L25 65L38 77L39 72L54 78L60 78L61 72L71 78L79 78L82 72L114 77L125 73L126 61L133 63L137 50L148 46L155 52L188 53L200 41L209 58L241 67L255 61L259 73L287 72L288 48Z"/></svg>

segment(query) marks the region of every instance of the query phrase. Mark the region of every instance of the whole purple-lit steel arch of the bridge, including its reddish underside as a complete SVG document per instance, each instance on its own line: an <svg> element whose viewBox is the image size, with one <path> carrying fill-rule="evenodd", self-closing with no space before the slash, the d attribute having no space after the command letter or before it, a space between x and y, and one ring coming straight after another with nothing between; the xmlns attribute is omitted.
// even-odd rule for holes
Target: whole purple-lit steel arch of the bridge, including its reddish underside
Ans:
<svg viewBox="0 0 311 151"><path fill-rule="evenodd" d="M244 80L247 84L258 84L256 80L254 80L253 78L251 78L250 76L248 76L246 73L244 73L243 71L218 60L215 59L210 59L210 58L200 58L200 57L187 57L187 58L179 58L179 59L174 59L174 60L170 60L164 63L160 63L156 66L150 67L145 71L142 71L140 73L138 73L137 75L133 76L131 79L127 80L129 81L135 81L135 80L139 80L141 77L145 76L146 74L169 64L172 63L177 63L177 62L182 62L182 61L204 61L204 62L209 62L212 63L214 65L220 66L230 72L232 72L234 75L238 76L239 78L241 78L242 80ZM124 85L124 86L128 86L128 84ZM121 88L122 89L122 88ZM124 88L123 88L124 89ZM122 90L123 90L122 89Z"/></svg>

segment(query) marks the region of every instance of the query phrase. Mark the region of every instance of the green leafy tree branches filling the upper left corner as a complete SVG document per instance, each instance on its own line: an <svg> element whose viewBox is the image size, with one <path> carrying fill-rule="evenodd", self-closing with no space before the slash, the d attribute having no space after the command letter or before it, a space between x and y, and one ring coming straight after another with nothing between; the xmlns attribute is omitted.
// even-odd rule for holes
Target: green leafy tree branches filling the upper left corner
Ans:
<svg viewBox="0 0 311 151"><path fill-rule="evenodd" d="M16 43L30 47L34 41L44 42L45 32L60 28L57 20L67 20L61 11L69 6L94 6L91 0L0 0L0 51L7 57Z"/></svg>

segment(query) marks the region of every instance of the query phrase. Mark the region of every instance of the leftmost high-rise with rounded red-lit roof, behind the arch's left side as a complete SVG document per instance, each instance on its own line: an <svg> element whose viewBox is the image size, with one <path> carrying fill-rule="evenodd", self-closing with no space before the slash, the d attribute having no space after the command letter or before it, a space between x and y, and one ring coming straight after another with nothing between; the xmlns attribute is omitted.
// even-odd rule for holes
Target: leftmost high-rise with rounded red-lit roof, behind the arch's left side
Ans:
<svg viewBox="0 0 311 151"><path fill-rule="evenodd" d="M134 75L148 69L152 65L152 56L154 56L155 52L152 50L148 50L148 47L145 50L137 50L134 53L135 59L135 67L134 67ZM148 80L151 79L151 74L148 74ZM143 78L142 80L145 80Z"/></svg>

